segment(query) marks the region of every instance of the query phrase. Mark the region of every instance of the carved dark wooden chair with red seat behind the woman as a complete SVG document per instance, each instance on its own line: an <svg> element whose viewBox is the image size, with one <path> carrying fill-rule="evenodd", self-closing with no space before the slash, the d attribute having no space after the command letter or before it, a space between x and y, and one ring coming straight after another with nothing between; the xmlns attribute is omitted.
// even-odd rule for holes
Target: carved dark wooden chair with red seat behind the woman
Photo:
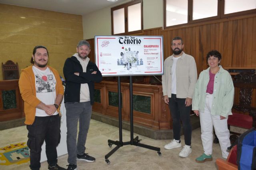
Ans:
<svg viewBox="0 0 256 170"><path fill-rule="evenodd" d="M239 88L239 103L232 107L233 115L228 116L228 129L230 126L250 129L256 127L256 107L252 107L252 92L256 89L256 74L252 71L244 71L234 76L234 87ZM255 100L255 98L254 98ZM236 135L241 135L230 131L230 141L234 143L237 139ZM215 135L215 134L214 134ZM218 143L218 138L215 135L214 143Z"/></svg>

